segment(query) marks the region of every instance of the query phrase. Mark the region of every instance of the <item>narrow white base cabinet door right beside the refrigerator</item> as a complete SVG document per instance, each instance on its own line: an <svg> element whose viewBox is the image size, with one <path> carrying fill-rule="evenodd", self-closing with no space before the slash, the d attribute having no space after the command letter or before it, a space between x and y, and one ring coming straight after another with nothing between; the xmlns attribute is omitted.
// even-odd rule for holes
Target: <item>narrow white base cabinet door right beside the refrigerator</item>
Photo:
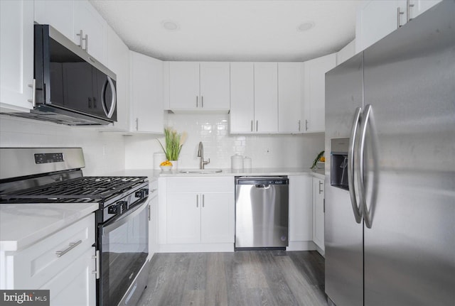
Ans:
<svg viewBox="0 0 455 306"><path fill-rule="evenodd" d="M324 251L324 181L313 178L313 241Z"/></svg>

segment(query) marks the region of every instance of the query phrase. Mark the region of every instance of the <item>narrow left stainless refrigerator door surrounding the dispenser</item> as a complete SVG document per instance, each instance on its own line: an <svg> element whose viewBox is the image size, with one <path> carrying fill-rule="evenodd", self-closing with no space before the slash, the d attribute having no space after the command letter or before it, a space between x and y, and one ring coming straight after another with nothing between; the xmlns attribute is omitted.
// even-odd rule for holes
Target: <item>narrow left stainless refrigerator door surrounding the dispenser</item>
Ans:
<svg viewBox="0 0 455 306"><path fill-rule="evenodd" d="M348 190L331 186L332 156L328 152L332 151L332 138L350 136L355 109L362 106L362 93L363 54L327 72L326 294L337 306L363 305L363 222L355 222Z"/></svg>

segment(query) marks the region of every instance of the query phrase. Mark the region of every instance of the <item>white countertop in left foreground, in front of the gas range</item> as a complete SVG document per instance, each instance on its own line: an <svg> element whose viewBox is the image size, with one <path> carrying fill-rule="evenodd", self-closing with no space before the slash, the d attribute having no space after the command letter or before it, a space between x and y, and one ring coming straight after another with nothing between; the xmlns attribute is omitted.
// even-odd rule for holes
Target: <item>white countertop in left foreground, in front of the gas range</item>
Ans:
<svg viewBox="0 0 455 306"><path fill-rule="evenodd" d="M20 251L98 207L98 203L0 204L0 251Z"/></svg>

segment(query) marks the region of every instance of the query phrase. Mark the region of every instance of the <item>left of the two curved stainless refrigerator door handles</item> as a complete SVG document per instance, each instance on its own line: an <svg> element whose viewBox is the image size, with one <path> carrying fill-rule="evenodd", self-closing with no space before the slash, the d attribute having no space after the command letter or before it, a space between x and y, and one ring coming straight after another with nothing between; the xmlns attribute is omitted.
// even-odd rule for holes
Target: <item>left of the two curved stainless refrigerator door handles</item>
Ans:
<svg viewBox="0 0 455 306"><path fill-rule="evenodd" d="M350 128L350 137L349 137L349 148L348 148L348 185L349 185L349 195L350 195L350 204L353 206L353 213L355 222L362 222L362 216L360 214L360 208L355 199L355 184L354 184L354 149L355 149L355 138L357 136L357 128L360 122L360 113L362 108L359 106L355 109L353 125Z"/></svg>

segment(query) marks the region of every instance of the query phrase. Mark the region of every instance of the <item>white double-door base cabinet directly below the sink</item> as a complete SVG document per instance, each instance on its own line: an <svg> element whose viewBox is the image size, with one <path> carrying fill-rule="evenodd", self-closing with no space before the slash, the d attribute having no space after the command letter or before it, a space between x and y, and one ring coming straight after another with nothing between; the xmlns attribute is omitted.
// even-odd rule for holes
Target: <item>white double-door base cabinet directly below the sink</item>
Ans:
<svg viewBox="0 0 455 306"><path fill-rule="evenodd" d="M160 207L166 212L162 211L160 217L165 215L166 222L159 225L161 244L193 244L195 251L208 251L198 248L203 245L230 245L233 250L233 177L169 177L164 184L166 197L160 196ZM164 246L164 250L169 249ZM223 250L226 249L218 249ZM217 246L210 251L217 251Z"/></svg>

